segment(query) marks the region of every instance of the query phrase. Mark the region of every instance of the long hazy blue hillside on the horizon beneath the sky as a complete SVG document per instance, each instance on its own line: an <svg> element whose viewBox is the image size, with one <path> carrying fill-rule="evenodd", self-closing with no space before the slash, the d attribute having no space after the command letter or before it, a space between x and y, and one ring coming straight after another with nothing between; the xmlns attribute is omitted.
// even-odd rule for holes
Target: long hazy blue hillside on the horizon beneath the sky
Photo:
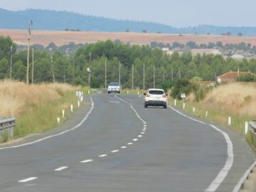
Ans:
<svg viewBox="0 0 256 192"><path fill-rule="evenodd" d="M48 11L29 9L25 11L7 11L0 8L0 29L27 29L28 22L33 21L33 29L58 30L74 29L95 32L142 32L166 34L224 34L230 32L237 36L256 36L256 27L218 27L198 25L197 27L175 28L154 22L114 20L109 18L81 15L67 11Z"/></svg>

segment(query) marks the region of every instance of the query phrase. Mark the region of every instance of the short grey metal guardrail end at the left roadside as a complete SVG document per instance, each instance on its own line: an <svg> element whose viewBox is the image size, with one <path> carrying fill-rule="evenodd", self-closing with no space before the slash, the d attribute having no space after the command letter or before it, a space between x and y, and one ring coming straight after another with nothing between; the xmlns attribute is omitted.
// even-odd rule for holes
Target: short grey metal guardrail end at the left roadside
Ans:
<svg viewBox="0 0 256 192"><path fill-rule="evenodd" d="M3 135L13 137L13 129L15 127L15 118L2 118L0 117L0 138Z"/></svg>

